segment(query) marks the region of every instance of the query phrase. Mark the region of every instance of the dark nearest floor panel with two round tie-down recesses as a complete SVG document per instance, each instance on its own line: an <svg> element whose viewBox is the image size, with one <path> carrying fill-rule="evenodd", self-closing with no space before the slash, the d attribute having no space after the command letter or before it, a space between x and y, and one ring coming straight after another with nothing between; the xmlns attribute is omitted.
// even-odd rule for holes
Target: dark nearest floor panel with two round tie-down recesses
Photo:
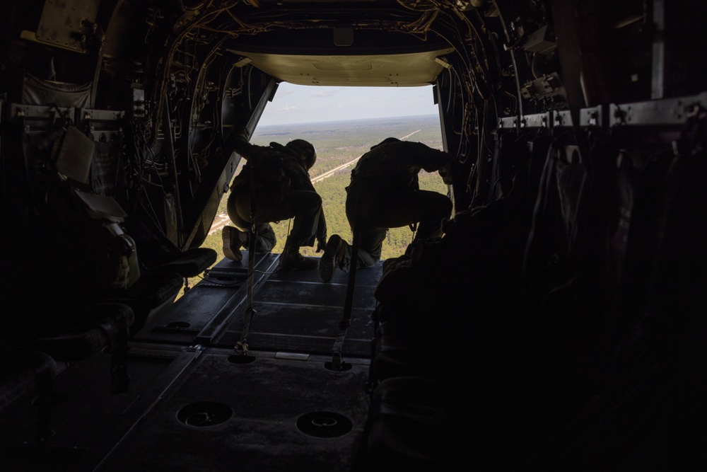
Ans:
<svg viewBox="0 0 707 472"><path fill-rule="evenodd" d="M234 364L229 357L202 355L100 470L351 468L368 410L366 364L332 372L321 360L255 357L248 364ZM191 419L180 413L195 403L201 405ZM214 424L204 425L209 415L214 415ZM337 421L340 430L333 424ZM320 437L322 433L332 437Z"/></svg>

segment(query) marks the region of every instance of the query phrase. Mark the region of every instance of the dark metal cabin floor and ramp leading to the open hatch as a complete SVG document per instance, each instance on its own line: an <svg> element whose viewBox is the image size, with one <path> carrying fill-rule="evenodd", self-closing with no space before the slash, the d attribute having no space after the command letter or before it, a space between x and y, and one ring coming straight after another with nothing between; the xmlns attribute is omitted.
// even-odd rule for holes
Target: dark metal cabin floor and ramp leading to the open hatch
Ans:
<svg viewBox="0 0 707 472"><path fill-rule="evenodd" d="M108 394L107 356L59 374L51 447L33 444L31 425L18 430L6 418L3 435L12 440L3 450L11 464L47 471L350 469L368 414L373 288L382 264L358 271L344 364L335 370L347 275L325 284L317 270L277 272L277 259L255 261L247 355L234 349L245 326L245 255L240 263L222 260L132 338L127 393ZM94 389L76 388L92 377Z"/></svg>

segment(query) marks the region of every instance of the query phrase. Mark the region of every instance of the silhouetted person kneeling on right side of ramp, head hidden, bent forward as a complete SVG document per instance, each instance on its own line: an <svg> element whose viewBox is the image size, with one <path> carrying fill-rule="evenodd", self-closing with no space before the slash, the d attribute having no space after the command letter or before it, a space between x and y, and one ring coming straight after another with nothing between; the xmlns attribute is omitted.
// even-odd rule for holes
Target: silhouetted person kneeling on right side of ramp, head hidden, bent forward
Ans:
<svg viewBox="0 0 707 472"><path fill-rule="evenodd" d="M418 224L414 241L442 236L442 221L450 217L452 202L438 192L420 190L418 174L424 169L440 171L444 177L451 162L445 151L396 138L385 139L361 156L346 188L346 218L351 231L356 231L355 224L359 231L356 267L370 267L380 260L390 228ZM337 268L348 272L351 257L351 245L332 235L320 260L322 280L332 280Z"/></svg>

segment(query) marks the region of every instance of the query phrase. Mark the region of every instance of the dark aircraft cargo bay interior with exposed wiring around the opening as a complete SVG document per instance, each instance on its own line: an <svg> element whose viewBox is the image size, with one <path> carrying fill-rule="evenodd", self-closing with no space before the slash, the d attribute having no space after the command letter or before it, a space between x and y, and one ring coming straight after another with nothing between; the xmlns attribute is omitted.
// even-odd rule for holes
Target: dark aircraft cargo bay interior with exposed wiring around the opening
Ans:
<svg viewBox="0 0 707 472"><path fill-rule="evenodd" d="M2 470L707 466L695 2L0 11ZM329 282L206 247L288 84L428 88L443 236Z"/></svg>

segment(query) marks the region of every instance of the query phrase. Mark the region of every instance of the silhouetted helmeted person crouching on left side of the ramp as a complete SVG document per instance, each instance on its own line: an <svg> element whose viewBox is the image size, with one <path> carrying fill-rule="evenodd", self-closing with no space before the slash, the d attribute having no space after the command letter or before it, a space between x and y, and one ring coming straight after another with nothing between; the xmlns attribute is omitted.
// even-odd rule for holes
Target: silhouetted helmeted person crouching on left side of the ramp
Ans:
<svg viewBox="0 0 707 472"><path fill-rule="evenodd" d="M280 268L317 267L316 260L304 258L299 252L301 246L314 246L315 240L319 241L317 251L320 251L327 241L322 198L312 186L308 173L317 161L314 146L304 139L294 139L285 146L276 142L257 146L242 140L234 145L234 150L247 163L231 185L228 217L238 228L226 226L223 229L223 255L231 260L242 260L240 248L247 247L254 229L256 251L271 251L276 243L271 222L294 218ZM251 205L251 195L255 195L254 205Z"/></svg>

